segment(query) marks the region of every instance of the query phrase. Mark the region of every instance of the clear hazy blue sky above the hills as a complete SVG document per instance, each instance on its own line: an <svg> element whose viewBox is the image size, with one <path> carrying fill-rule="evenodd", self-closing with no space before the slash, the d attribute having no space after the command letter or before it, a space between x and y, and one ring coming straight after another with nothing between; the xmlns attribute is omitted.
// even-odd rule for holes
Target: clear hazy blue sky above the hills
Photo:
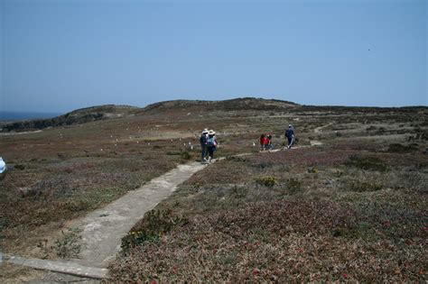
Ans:
<svg viewBox="0 0 428 284"><path fill-rule="evenodd" d="M427 1L0 0L0 110L427 105Z"/></svg>

